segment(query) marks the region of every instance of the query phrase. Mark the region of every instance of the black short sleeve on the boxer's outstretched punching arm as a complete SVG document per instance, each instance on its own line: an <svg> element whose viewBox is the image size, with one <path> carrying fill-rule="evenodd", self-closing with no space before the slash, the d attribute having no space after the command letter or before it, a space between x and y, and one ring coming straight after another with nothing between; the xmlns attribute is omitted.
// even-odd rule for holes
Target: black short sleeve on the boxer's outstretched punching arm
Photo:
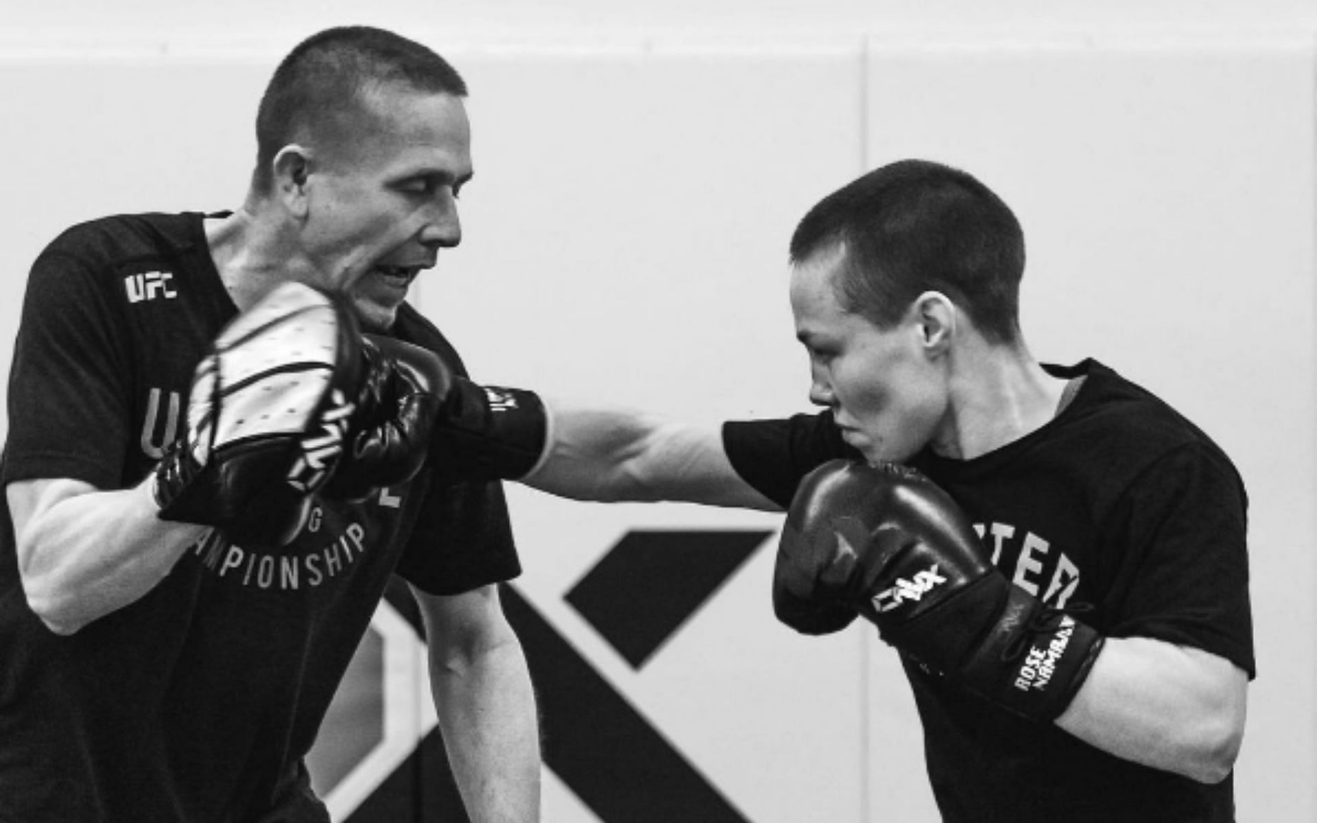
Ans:
<svg viewBox="0 0 1317 823"><path fill-rule="evenodd" d="M842 440L831 412L780 420L730 420L723 450L736 473L769 500L789 508L801 479L819 465L860 458Z"/></svg>

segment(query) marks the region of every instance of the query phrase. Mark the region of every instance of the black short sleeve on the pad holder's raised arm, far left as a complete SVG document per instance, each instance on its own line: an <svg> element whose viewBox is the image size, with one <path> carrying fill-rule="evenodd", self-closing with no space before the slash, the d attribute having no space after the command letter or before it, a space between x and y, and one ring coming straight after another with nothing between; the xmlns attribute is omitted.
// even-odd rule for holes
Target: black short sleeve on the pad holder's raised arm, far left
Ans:
<svg viewBox="0 0 1317 823"><path fill-rule="evenodd" d="M28 279L9 371L4 482L61 477L113 489L130 442L129 334L95 262L59 244Z"/></svg>

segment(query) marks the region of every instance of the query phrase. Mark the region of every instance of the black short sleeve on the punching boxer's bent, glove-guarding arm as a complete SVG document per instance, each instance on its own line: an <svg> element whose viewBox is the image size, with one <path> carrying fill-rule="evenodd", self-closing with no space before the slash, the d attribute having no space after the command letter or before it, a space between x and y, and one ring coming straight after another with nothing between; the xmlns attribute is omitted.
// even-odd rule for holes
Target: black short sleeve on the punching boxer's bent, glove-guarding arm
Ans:
<svg viewBox="0 0 1317 823"><path fill-rule="evenodd" d="M1256 673L1247 496L1220 452L1192 444L1154 462L1104 531L1125 544L1119 568L1106 570L1109 635L1200 648Z"/></svg>

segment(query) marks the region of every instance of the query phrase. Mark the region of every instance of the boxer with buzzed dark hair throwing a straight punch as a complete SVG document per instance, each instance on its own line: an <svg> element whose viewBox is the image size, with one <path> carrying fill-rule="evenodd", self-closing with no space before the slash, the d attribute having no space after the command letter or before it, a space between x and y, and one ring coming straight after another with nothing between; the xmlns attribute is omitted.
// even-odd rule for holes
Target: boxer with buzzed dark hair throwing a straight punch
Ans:
<svg viewBox="0 0 1317 823"><path fill-rule="evenodd" d="M865 174L790 252L822 413L701 427L554 402L524 482L790 508L778 618L863 614L902 653L948 822L1233 820L1254 657L1227 457L1112 369L1034 359L1022 232L963 171Z"/></svg>

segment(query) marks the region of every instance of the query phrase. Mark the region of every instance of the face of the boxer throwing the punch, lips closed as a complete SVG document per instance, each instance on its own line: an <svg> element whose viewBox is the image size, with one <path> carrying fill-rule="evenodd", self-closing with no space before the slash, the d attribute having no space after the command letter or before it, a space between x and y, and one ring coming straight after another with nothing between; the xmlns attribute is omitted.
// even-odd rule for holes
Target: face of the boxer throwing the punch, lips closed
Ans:
<svg viewBox="0 0 1317 823"><path fill-rule="evenodd" d="M881 329L842 308L834 278L844 250L815 254L792 271L795 336L810 356L810 400L832 410L843 437L869 462L905 461L942 427L946 378L907 312Z"/></svg>

